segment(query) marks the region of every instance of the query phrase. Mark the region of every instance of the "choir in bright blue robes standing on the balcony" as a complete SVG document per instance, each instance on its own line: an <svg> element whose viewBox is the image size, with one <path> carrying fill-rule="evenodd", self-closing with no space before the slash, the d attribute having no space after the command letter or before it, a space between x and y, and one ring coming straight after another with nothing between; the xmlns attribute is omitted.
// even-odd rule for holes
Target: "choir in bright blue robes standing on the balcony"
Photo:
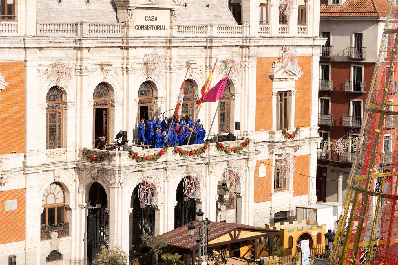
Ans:
<svg viewBox="0 0 398 265"><path fill-rule="evenodd" d="M190 139L189 135L191 135ZM173 121L171 118L164 117L162 120L160 116L157 118L153 116L153 118L148 117L148 120L141 119L137 140L160 148L164 146L165 142L169 142L171 145L186 145L188 139L189 144L204 143L205 135L206 130L203 128L203 124L200 124L200 119L193 122L191 115L188 117L183 115L181 120L173 118Z"/></svg>

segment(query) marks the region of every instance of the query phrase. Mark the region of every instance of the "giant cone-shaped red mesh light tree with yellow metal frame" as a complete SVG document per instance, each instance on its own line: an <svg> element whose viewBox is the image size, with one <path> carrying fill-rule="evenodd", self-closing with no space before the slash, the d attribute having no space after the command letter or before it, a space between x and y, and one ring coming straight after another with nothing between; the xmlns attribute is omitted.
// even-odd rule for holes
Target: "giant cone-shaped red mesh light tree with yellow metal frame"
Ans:
<svg viewBox="0 0 398 265"><path fill-rule="evenodd" d="M391 125L398 118L397 44L398 6L392 1L330 255L332 265L398 264L398 131Z"/></svg>

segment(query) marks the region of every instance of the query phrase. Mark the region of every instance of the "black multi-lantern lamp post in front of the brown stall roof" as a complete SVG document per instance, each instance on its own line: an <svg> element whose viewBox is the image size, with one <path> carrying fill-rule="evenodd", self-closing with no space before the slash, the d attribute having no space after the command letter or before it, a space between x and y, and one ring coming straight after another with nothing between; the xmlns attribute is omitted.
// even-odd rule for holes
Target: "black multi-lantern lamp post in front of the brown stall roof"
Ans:
<svg viewBox="0 0 398 265"><path fill-rule="evenodd" d="M198 245L198 255L199 255L199 265L202 264L202 254L204 256L204 260L207 264L208 259L207 259L207 236L209 235L209 229L210 229L210 223L211 221L209 219L203 220L203 211L202 209L199 209L199 211L196 212L197 216L197 221L199 222L199 232L196 236L196 244ZM203 230L202 230L202 225L203 225ZM195 226L191 223L188 225L188 233L189 236L191 237L191 240L193 241L193 237L195 236ZM203 241L203 246L202 246L202 241Z"/></svg>

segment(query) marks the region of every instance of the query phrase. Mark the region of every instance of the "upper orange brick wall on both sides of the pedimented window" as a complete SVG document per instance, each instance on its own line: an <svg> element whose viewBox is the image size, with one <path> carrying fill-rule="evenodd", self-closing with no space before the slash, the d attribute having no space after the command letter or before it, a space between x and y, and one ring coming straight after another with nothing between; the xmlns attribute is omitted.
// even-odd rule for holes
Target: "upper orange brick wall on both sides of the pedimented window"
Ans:
<svg viewBox="0 0 398 265"><path fill-rule="evenodd" d="M271 64L274 58L257 58L256 83L256 131L271 130L272 126L272 82L269 79ZM311 95L311 57L298 57L298 66L304 74L296 81L295 127L310 126Z"/></svg>

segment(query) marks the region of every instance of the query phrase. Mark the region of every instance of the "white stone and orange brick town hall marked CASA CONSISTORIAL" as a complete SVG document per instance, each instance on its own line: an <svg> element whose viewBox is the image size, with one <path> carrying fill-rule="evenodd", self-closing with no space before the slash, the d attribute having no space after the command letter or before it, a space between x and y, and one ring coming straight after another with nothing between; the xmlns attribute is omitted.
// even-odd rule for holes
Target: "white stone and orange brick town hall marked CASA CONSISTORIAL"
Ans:
<svg viewBox="0 0 398 265"><path fill-rule="evenodd" d="M12 256L16 264L90 264L101 244L117 244L133 258L142 251L142 233L170 231L199 208L211 221L264 226L286 221L295 205L316 202L325 43L318 2L300 2L288 16L279 1L232 1L242 25L223 0L5 2L11 6L0 28L1 264ZM163 73L154 77L146 58L166 51L168 62L156 68ZM239 121L238 140L223 144L230 150L248 137L242 152L226 154L211 143L195 157L170 147L156 162L145 158L161 149L136 151L144 162L115 151L92 161L90 155L100 160L105 153L92 149L96 135L113 141L124 130L131 143L139 118L170 116L187 69L183 113L196 115L194 102L214 63L213 84L226 75L231 56L241 58L242 73L228 80L214 133ZM203 103L198 118L206 129L216 109ZM236 192L222 186L231 166L242 169ZM183 184L195 174L202 192L188 199ZM139 185L150 176L159 180L158 201L143 205Z"/></svg>

